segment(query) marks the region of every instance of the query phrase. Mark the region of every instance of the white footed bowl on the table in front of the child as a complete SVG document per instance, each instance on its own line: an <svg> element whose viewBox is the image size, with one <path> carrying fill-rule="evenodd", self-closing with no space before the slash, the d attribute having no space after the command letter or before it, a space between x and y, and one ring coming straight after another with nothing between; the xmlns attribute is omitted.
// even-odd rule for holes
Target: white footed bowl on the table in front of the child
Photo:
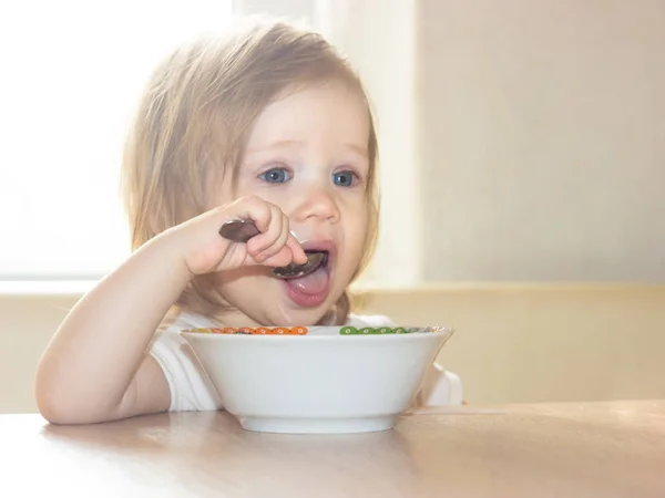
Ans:
<svg viewBox="0 0 665 498"><path fill-rule="evenodd" d="M181 331L224 407L247 430L323 434L393 427L452 329L386 335Z"/></svg>

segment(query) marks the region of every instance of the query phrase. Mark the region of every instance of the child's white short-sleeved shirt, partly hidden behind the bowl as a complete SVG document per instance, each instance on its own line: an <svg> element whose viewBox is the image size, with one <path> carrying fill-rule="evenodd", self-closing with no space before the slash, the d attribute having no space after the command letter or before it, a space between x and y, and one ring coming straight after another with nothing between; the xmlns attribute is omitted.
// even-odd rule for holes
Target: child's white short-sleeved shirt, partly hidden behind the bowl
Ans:
<svg viewBox="0 0 665 498"><path fill-rule="evenodd" d="M347 325L396 326L387 317L351 314ZM150 354L157 361L171 390L170 412L216 411L224 406L208 375L196 359L187 341L178 331L183 329L216 326L209 319L181 312L166 329L158 332ZM422 405L451 405L462 401L461 383L457 375L434 363L419 394Z"/></svg>

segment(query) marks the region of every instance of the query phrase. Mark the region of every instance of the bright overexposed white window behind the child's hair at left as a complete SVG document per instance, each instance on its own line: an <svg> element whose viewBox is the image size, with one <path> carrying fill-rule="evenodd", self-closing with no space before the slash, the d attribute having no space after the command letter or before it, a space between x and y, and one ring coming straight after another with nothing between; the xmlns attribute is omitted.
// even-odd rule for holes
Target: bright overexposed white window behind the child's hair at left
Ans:
<svg viewBox="0 0 665 498"><path fill-rule="evenodd" d="M168 49L219 29L231 0L0 6L0 278L86 279L129 255L125 134Z"/></svg>

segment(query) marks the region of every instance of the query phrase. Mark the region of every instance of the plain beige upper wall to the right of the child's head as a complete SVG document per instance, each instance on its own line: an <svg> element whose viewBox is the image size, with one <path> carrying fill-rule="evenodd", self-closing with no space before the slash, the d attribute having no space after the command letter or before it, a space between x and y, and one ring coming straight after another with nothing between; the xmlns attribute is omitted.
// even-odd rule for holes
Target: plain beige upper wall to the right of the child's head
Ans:
<svg viewBox="0 0 665 498"><path fill-rule="evenodd" d="M417 4L424 279L665 281L665 2Z"/></svg>

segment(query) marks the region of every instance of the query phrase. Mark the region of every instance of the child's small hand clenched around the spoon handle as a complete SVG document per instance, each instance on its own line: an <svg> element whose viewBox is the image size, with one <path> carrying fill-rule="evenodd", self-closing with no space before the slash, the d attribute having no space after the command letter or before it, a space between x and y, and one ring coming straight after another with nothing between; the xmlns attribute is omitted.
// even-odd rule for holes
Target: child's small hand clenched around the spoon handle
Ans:
<svg viewBox="0 0 665 498"><path fill-rule="evenodd" d="M253 220L262 234L246 245L223 238L219 228L236 218ZM286 215L274 204L255 196L204 212L171 231L183 240L185 264L192 274L247 264L284 267L307 261L305 251L289 231Z"/></svg>

